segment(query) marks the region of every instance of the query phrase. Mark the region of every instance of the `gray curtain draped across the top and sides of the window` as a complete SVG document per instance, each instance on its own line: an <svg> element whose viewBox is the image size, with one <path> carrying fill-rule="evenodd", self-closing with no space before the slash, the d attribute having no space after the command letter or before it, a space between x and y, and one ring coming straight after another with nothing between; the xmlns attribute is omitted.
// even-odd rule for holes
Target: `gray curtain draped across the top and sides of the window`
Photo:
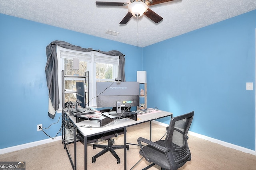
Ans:
<svg viewBox="0 0 256 170"><path fill-rule="evenodd" d="M58 86L58 60L56 53L56 46L60 46L66 49L72 49L76 51L92 51L92 48L82 48L76 45L72 45L65 41L52 41L49 45L46 46L46 57L47 62L45 66L46 82L49 90L49 104L48 104L48 116L54 119L56 110L59 108L60 98L59 98L59 86ZM122 62L119 63L119 72L118 77L121 75L121 80L125 81L124 77L124 55L119 51L99 51L106 55L119 56L119 60L122 59ZM121 63L123 66L120 68ZM122 78L123 76L123 78Z"/></svg>

